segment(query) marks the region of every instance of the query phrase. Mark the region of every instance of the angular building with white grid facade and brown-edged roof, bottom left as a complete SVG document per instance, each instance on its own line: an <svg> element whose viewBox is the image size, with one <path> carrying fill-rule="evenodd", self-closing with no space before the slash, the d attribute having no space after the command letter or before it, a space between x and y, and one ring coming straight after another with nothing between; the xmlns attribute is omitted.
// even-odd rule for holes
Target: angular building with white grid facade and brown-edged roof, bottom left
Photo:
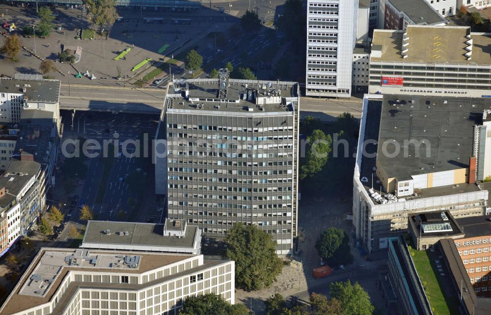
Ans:
<svg viewBox="0 0 491 315"><path fill-rule="evenodd" d="M202 255L43 248L0 313L177 315L197 294L234 304L234 273L234 261Z"/></svg>

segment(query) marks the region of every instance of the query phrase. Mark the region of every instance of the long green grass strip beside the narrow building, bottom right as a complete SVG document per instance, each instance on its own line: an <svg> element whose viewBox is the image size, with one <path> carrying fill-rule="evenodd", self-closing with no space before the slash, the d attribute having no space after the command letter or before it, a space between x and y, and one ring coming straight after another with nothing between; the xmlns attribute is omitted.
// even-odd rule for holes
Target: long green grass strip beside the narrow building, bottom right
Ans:
<svg viewBox="0 0 491 315"><path fill-rule="evenodd" d="M425 289L430 307L434 315L457 315L458 305L456 301L446 299L443 295L442 287L435 274L436 266L432 266L429 253L426 251L416 251L409 247L412 261L418 272L421 283Z"/></svg>

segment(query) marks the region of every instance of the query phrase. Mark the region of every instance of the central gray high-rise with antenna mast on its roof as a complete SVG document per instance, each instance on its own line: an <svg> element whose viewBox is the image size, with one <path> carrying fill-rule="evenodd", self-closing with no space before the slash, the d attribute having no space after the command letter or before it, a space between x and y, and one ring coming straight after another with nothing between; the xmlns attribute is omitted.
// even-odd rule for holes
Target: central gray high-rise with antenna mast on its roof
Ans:
<svg viewBox="0 0 491 315"><path fill-rule="evenodd" d="M273 235L288 254L297 231L299 86L293 82L175 80L157 138L157 193L168 217L223 237L235 222ZM159 152L162 149L156 148Z"/></svg>

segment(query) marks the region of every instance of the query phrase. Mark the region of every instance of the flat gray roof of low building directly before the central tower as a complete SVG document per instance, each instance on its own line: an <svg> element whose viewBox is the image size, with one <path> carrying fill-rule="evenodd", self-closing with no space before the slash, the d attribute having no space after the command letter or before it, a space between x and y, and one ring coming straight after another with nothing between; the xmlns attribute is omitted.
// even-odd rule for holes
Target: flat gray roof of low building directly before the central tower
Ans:
<svg viewBox="0 0 491 315"><path fill-rule="evenodd" d="M110 230L110 235L105 230ZM187 247L192 248L197 226L188 225L184 237L164 236L164 225L115 221L89 221L83 236L83 243L119 244L139 246ZM128 235L117 232L128 231Z"/></svg>

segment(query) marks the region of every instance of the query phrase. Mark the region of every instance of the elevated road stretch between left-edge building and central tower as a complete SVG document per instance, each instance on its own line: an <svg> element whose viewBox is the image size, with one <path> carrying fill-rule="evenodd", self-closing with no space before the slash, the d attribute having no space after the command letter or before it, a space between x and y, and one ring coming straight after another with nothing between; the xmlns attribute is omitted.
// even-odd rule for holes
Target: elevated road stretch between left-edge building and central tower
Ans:
<svg viewBox="0 0 491 315"><path fill-rule="evenodd" d="M62 84L60 109L160 114L166 88Z"/></svg>

